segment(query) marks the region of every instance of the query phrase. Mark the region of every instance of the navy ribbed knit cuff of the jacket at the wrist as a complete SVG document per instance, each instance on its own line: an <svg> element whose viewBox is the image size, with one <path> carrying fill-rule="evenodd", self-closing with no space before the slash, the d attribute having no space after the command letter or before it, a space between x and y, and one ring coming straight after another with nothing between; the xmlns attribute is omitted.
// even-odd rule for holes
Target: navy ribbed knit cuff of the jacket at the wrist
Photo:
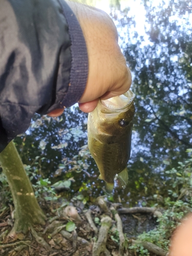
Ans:
<svg viewBox="0 0 192 256"><path fill-rule="evenodd" d="M68 108L78 102L86 88L89 68L88 53L86 41L75 14L65 1L59 0L59 3L66 17L71 39L72 62L70 83L67 94L60 101L60 108Z"/></svg>

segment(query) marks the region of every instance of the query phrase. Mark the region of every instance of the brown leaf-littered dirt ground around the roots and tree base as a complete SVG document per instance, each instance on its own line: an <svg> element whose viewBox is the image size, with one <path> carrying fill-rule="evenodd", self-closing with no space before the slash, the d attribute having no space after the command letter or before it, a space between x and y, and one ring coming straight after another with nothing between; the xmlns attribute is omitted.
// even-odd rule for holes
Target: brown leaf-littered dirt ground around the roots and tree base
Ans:
<svg viewBox="0 0 192 256"><path fill-rule="evenodd" d="M98 234L91 228L87 217L85 216L88 207L91 209L91 218L96 220L96 227L100 228L100 219L103 215L108 215L112 218L112 227L108 233L106 248L111 255L118 255L118 233L116 221L112 212L103 212L98 205L86 206L81 201L61 207L61 203L51 203L44 201L40 202L41 208L47 215L47 221L44 226L36 225L34 229L38 237L45 240L45 244L38 241L34 237L31 230L27 234L17 234L17 237L10 238L7 234L11 231L14 224L13 206L5 208L0 212L0 254L1 256L87 256L92 255L94 241L96 242ZM62 202L63 204L63 202ZM108 202L110 207L111 203ZM68 211L66 210L68 207ZM71 208L70 208L71 207ZM74 212L71 214L70 209L75 209L77 216L74 217ZM129 244L129 239L135 239L139 233L151 230L156 225L156 219L151 214L135 214L135 215L120 215L122 220L123 232L126 233L126 243ZM80 218L80 219L79 219ZM96 218L96 219L95 219ZM66 232L67 223L72 221L76 224L76 229L68 232L69 238L63 237L62 230ZM62 227L61 230L58 228ZM102 253L101 253L102 255ZM104 254L103 254L104 255ZM128 250L125 247L124 255L128 255ZM129 254L131 255L131 254Z"/></svg>

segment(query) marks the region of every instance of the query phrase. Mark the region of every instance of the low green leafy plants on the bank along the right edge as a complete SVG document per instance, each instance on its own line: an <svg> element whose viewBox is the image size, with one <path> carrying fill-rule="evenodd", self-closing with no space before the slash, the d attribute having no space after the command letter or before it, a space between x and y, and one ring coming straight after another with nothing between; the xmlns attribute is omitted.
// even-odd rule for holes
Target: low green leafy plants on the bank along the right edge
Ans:
<svg viewBox="0 0 192 256"><path fill-rule="evenodd" d="M164 199L165 210L157 220L157 228L138 236L139 241L154 243L165 250L168 250L169 239L174 229L181 219L192 211L192 158L178 164L177 168L166 172L172 180L172 189L169 189L170 197ZM147 250L139 244L130 246L130 249L135 249L139 255L148 255Z"/></svg>

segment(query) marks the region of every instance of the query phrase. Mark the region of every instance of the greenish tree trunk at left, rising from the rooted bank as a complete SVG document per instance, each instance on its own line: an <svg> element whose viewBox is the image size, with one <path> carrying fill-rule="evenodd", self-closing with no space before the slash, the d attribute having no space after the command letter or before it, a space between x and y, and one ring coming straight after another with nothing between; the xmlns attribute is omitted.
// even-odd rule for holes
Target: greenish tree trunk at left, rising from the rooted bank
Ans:
<svg viewBox="0 0 192 256"><path fill-rule="evenodd" d="M35 223L44 224L46 217L37 203L13 141L0 154L0 164L7 177L15 206L15 223L9 235L14 236L17 232L26 233Z"/></svg>

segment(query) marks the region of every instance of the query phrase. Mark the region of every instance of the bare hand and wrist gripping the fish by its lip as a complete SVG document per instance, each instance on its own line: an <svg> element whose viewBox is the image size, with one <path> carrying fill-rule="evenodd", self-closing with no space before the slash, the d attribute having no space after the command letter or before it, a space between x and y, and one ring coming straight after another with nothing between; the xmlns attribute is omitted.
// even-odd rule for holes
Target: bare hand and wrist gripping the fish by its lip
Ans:
<svg viewBox="0 0 192 256"><path fill-rule="evenodd" d="M118 45L117 29L105 12L66 1L76 15L86 40L89 74L79 100L83 112L92 112L99 98L121 95L131 86L131 73Z"/></svg>

